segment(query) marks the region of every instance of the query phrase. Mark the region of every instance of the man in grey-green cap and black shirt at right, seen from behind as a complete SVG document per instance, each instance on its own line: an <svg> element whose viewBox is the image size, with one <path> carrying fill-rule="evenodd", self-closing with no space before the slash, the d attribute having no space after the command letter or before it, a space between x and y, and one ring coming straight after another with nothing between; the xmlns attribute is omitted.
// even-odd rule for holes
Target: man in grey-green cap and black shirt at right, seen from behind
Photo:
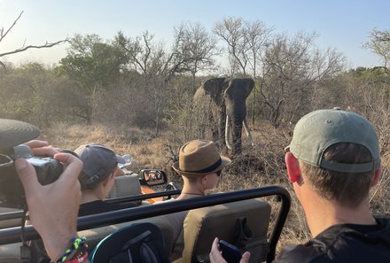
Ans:
<svg viewBox="0 0 390 263"><path fill-rule="evenodd" d="M297 122L285 151L288 179L313 237L274 262L390 262L390 218L370 213L370 188L381 172L370 121L339 108L310 112ZM226 262L217 238L210 258Z"/></svg>

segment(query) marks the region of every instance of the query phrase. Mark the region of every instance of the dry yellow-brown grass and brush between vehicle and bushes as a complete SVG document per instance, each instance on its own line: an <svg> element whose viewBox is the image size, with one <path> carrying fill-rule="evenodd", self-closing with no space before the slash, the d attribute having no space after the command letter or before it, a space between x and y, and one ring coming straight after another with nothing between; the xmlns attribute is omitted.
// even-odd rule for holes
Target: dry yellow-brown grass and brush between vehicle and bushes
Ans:
<svg viewBox="0 0 390 263"><path fill-rule="evenodd" d="M154 136L150 130L138 128L81 126L58 123L52 128L43 129L41 139L51 142L61 148L74 150L83 143L102 143L112 148L118 154L129 153L133 156L133 170L142 168L160 168L168 172L170 181L179 186L182 181L179 175L174 174L169 162L167 144L178 149L181 143L176 133L166 132ZM287 182L285 176L284 148L290 142L288 129L273 128L268 124L261 124L253 128L255 146L249 146L246 138L243 139L243 153L233 159L232 165L222 174L218 191L243 190L266 185L281 185L292 195L292 210L289 213L280 245L297 244L310 237L302 209ZM223 152L227 155L227 152ZM389 213L388 201L390 194L389 163L390 158L383 159L383 177L378 188L372 191L371 206L374 213ZM276 208L279 203L275 198L269 198L269 203ZM275 218L275 212L272 219ZM273 221L271 219L271 222ZM272 224L271 224L272 225Z"/></svg>

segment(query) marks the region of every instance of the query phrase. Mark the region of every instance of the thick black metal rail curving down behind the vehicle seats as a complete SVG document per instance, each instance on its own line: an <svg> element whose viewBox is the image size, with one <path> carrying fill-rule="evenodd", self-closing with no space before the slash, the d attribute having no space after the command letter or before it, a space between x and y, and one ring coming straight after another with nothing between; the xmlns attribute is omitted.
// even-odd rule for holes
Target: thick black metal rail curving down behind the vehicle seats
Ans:
<svg viewBox="0 0 390 263"><path fill-rule="evenodd" d="M282 229L285 225L285 220L291 206L290 194L287 190L285 190L285 188L279 186L268 186L251 190L218 193L207 197L177 200L175 202L163 202L157 205L144 205L108 213L83 216L78 220L77 229L85 230L90 228L98 228L102 226L118 224L125 221L158 216L166 213L175 213L210 205L220 205L240 200L269 196L278 196L281 199L281 205L277 215L277 222L269 238L267 262L270 263L273 259L275 259L277 241L280 237L280 234L282 233ZM12 244L20 242L20 230L20 227L0 229L0 244ZM27 226L25 228L25 239L31 240L37 238L39 238L39 235L35 229L32 226Z"/></svg>

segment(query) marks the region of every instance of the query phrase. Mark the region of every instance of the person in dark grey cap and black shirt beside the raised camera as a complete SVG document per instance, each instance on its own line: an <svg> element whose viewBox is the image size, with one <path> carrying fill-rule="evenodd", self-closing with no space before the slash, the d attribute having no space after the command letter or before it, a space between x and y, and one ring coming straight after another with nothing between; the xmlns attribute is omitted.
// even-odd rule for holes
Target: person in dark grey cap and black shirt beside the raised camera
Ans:
<svg viewBox="0 0 390 263"><path fill-rule="evenodd" d="M115 176L121 171L118 164L126 161L113 150L100 144L85 144L74 150L82 160L79 181L82 185L82 204L79 216L105 213L137 206L136 203L106 203L103 201L113 189Z"/></svg>

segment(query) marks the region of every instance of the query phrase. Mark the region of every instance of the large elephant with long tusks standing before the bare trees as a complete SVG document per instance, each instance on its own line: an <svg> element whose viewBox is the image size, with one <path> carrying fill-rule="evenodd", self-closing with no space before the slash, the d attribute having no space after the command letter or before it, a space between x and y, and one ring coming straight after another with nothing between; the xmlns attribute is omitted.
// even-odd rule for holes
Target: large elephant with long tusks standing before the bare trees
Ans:
<svg viewBox="0 0 390 263"><path fill-rule="evenodd" d="M254 81L250 78L213 78L205 81L194 95L195 105L203 116L206 112L209 120L214 124L212 126L214 142L225 144L232 150L233 156L241 153L243 126L249 142L253 145L252 135L246 122L246 97L252 92L253 87ZM233 131L232 146L230 130Z"/></svg>

